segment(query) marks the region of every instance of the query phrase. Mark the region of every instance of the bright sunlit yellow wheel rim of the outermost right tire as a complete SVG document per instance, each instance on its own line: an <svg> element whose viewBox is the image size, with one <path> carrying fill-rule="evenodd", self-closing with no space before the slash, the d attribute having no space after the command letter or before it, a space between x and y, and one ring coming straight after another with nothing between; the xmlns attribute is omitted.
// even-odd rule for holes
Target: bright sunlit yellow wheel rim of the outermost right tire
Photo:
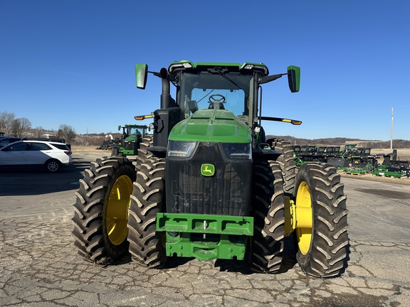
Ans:
<svg viewBox="0 0 410 307"><path fill-rule="evenodd" d="M301 224L312 225L312 198L310 197L310 190L308 184L303 181L298 188L298 194L296 195L296 208L298 210L298 220L307 221ZM296 235L298 238L299 250L302 254L308 254L310 249L310 242L312 242L312 227L298 227L296 225Z"/></svg>

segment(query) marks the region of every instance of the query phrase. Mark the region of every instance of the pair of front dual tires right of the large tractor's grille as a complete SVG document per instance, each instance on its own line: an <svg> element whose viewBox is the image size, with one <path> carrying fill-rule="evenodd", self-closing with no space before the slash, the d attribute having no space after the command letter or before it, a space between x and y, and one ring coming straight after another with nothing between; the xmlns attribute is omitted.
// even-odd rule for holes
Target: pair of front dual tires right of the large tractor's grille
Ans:
<svg viewBox="0 0 410 307"><path fill-rule="evenodd" d="M285 198L277 161L256 162L253 173L253 217L251 269L275 273L280 270L285 223ZM346 196L334 166L305 163L295 176L293 200L300 224L293 232L296 259L311 276L340 276L349 254ZM306 222L308 221L308 222ZM311 221L311 222L310 222Z"/></svg>

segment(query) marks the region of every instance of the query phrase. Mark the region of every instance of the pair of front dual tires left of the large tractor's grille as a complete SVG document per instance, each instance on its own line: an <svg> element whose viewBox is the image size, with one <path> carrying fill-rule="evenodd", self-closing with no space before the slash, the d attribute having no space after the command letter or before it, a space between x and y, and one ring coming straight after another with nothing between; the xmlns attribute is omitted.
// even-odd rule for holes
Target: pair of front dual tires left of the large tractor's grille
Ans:
<svg viewBox="0 0 410 307"><path fill-rule="evenodd" d="M130 252L145 266L164 265L164 239L156 232L164 204L164 165L162 158L145 158L136 172L122 156L91 163L75 193L72 235L78 254L111 264Z"/></svg>

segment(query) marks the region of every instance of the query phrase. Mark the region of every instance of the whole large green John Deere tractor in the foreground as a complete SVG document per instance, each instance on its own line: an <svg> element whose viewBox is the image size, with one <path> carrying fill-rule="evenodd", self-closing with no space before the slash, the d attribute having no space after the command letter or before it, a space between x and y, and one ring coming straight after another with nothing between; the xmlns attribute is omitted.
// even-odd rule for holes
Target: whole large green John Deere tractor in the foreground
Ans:
<svg viewBox="0 0 410 307"><path fill-rule="evenodd" d="M138 88L148 72L136 65ZM150 73L162 80L153 144L138 151L137 166L111 156L85 171L73 217L79 254L108 264L130 252L150 268L169 257L246 259L274 273L293 235L303 271L342 274L349 242L340 175L325 163L297 170L289 142L266 140L262 126L301 123L261 114L261 86L287 75L298 92L300 68L269 75L262 63L181 61Z"/></svg>

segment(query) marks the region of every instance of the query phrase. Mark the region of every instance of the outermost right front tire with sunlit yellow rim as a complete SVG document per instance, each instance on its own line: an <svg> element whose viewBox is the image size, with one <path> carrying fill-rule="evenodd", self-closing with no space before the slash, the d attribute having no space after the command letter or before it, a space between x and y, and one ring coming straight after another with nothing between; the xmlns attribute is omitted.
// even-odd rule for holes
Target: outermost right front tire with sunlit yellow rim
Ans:
<svg viewBox="0 0 410 307"><path fill-rule="evenodd" d="M312 228L296 228L296 259L300 268L312 276L340 276L347 267L348 211L343 188L335 166L305 163L299 168L295 205L311 208L307 216L312 217Z"/></svg>

